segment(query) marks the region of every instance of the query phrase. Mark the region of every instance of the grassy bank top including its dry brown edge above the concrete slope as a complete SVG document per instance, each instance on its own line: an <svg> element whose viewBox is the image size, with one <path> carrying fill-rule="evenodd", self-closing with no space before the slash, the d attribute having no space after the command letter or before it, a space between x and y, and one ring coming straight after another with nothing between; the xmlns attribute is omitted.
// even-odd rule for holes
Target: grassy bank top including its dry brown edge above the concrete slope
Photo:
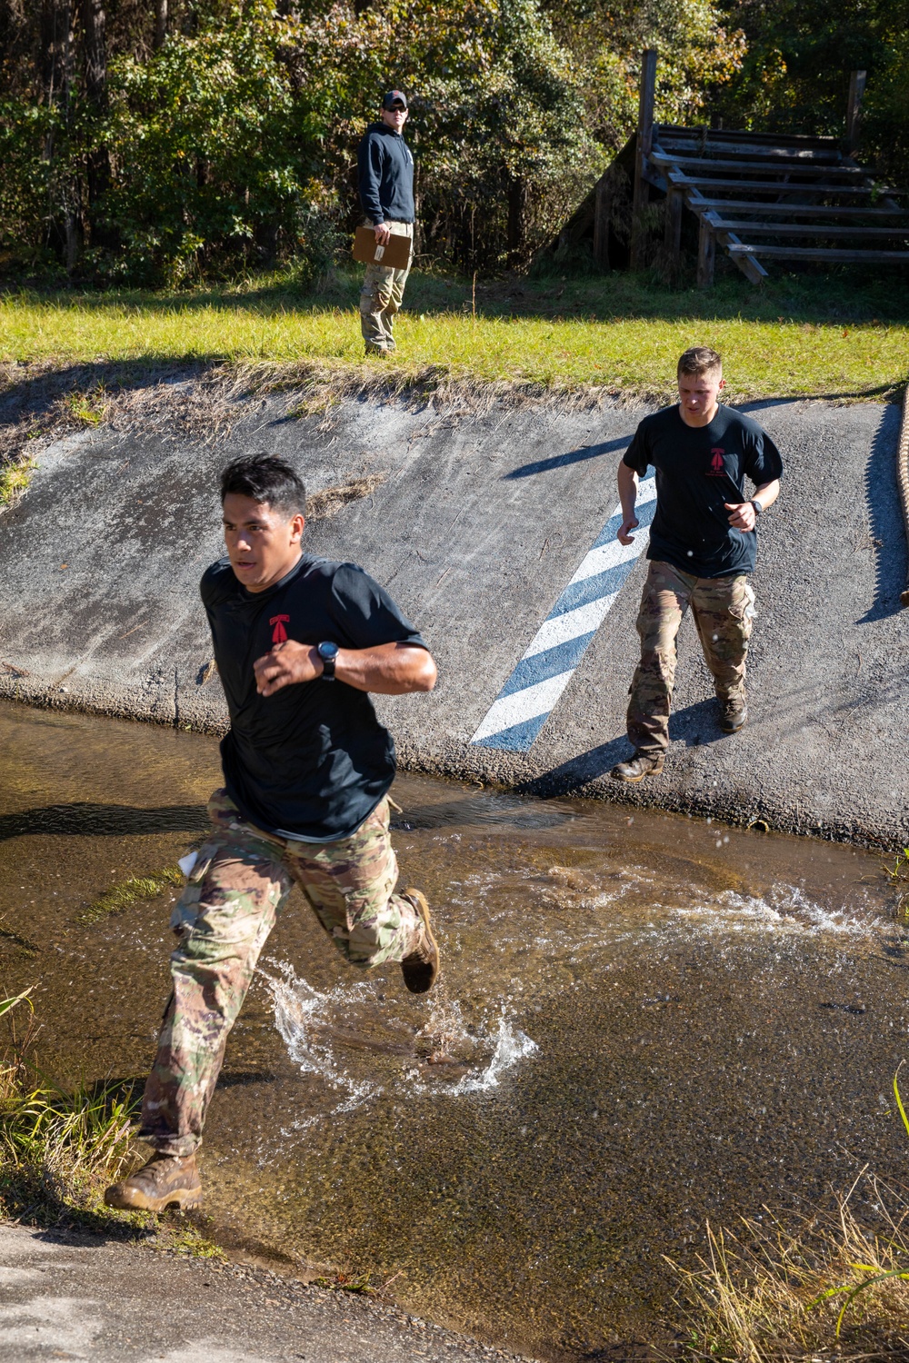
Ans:
<svg viewBox="0 0 909 1363"><path fill-rule="evenodd" d="M579 395L672 401L676 358L707 343L726 357L726 397L886 399L909 378L909 281L784 277L709 293L615 274L480 282L414 273L394 360L367 361L360 279L331 271L301 290L289 274L180 293L0 293L0 507L29 483L29 450L116 417L162 369L192 365L230 395L294 387L304 409L379 390L518 401ZM211 424L214 388L196 393ZM27 390L27 395L26 395ZM41 390L41 391L40 391ZM209 406L206 406L209 403ZM129 423L129 412L119 412ZM136 420L134 410L132 420ZM204 424L204 423L203 423Z"/></svg>

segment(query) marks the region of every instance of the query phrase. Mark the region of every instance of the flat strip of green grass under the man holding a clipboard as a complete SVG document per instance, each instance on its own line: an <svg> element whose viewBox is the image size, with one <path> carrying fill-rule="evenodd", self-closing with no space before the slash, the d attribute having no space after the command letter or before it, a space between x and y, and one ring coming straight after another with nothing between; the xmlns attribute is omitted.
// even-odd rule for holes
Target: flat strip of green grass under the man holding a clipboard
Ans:
<svg viewBox="0 0 909 1363"><path fill-rule="evenodd" d="M16 293L0 298L0 361L364 364L358 279L333 273L304 296L273 275L192 293ZM728 393L882 397L909 376L909 286L782 278L709 293L646 277L508 279L478 285L414 274L398 320L397 378L589 386L665 398L680 350L715 346ZM372 361L371 368L387 361ZM14 379L14 375L8 375ZM79 416L98 420L101 403Z"/></svg>

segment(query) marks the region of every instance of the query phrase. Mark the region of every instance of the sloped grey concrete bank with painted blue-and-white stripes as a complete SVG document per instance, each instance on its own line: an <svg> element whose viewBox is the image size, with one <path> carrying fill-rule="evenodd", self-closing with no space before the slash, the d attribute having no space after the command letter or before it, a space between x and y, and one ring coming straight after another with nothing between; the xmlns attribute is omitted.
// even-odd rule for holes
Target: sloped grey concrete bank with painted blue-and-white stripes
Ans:
<svg viewBox="0 0 909 1363"><path fill-rule="evenodd" d="M268 447L316 495L309 551L361 563L437 657L432 695L380 702L403 766L902 846L899 409L789 401L748 410L786 462L784 493L760 527L751 722L721 736L685 622L672 747L664 776L645 788L608 777L627 751L643 577L642 556L609 557L615 469L645 412L617 402L352 397L326 416L281 393L233 399L217 438L166 421L67 435L37 455L26 495L3 515L0 694L221 729L196 585L221 552L219 469ZM612 577L598 604L587 601L593 628L574 637L555 684L533 658L571 642L557 602L601 571L604 551ZM534 686L536 702L497 714L503 691Z"/></svg>

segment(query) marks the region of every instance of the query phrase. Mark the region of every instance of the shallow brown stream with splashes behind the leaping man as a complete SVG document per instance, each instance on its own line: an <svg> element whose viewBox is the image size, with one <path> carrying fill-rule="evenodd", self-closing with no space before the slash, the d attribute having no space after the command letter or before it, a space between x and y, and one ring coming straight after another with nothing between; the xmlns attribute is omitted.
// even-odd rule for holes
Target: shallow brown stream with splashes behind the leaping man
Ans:
<svg viewBox="0 0 909 1363"><path fill-rule="evenodd" d="M200 838L217 744L4 705L0 762L0 987L38 981L49 1073L143 1075L173 894L78 919ZM909 943L879 856L429 778L392 795L442 984L354 975L294 891L211 1108L225 1236L605 1358L672 1319L662 1255L691 1261L706 1219L807 1212L867 1163L899 1182Z"/></svg>

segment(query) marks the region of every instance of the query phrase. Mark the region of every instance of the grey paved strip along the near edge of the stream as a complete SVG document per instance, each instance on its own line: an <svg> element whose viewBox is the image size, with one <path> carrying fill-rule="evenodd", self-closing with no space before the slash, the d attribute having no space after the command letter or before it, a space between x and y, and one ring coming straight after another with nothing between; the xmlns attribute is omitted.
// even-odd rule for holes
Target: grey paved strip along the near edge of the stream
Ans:
<svg viewBox="0 0 909 1363"><path fill-rule="evenodd" d="M0 1359L489 1363L487 1348L360 1295L264 1269L0 1225Z"/></svg>

